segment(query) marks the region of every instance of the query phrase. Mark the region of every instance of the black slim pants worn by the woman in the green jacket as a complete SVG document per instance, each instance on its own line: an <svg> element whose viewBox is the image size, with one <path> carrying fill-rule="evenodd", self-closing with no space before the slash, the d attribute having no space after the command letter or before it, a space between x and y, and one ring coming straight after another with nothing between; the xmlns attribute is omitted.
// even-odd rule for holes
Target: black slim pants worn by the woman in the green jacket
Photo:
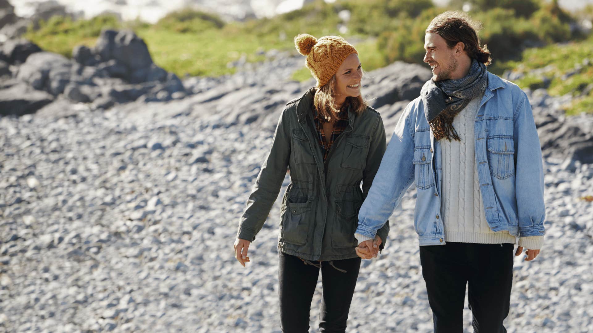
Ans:
<svg viewBox="0 0 593 333"><path fill-rule="evenodd" d="M313 261L314 264L320 264ZM356 287L361 258L334 260L333 266L328 261L321 262L321 280L323 282L323 302L319 314L319 328L322 332L345 332L346 319L350 302ZM282 332L308 332L311 300L319 268L305 265L294 255L280 252L280 327Z"/></svg>

